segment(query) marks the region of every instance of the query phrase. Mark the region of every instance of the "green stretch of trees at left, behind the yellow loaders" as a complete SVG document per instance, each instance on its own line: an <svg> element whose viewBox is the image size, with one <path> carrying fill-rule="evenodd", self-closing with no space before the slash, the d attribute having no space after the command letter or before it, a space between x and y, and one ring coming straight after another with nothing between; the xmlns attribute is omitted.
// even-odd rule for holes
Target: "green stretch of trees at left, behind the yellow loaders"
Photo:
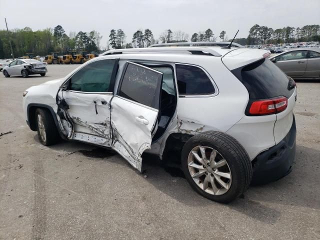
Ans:
<svg viewBox="0 0 320 240"><path fill-rule="evenodd" d="M64 53L74 50L99 50L102 35L92 30L90 32L70 32L67 35L61 25L53 29L32 31L30 27L15 28L9 31L0 30L0 58L10 58L9 40L12 44L15 57L24 56L25 53L47 55L51 52Z"/></svg>

